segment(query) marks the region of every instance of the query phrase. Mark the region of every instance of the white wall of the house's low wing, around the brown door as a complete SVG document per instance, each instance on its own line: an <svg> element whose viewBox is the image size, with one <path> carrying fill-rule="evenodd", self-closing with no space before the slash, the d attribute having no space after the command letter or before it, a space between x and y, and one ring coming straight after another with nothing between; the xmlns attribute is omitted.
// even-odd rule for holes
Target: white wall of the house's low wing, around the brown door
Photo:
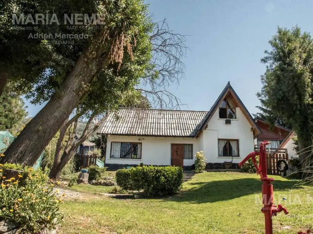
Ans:
<svg viewBox="0 0 313 234"><path fill-rule="evenodd" d="M144 139L144 140L139 140ZM138 142L141 144L141 159L110 158L111 142ZM105 163L140 164L145 165L171 165L171 144L193 144L193 159L184 159L184 166L194 163L194 155L199 151L199 140L182 137L141 137L141 136L115 136L107 139Z"/></svg>

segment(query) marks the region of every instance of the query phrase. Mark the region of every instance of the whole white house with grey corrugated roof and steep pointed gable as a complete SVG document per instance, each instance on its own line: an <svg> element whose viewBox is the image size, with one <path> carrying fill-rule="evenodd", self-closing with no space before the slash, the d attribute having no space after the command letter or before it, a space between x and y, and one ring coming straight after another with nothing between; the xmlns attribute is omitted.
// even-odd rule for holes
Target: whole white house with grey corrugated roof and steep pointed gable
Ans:
<svg viewBox="0 0 313 234"><path fill-rule="evenodd" d="M118 118L116 118L118 116ZM228 82L211 110L154 110L121 108L106 119L105 166L177 165L192 169L203 151L208 167L233 167L254 151L262 131Z"/></svg>

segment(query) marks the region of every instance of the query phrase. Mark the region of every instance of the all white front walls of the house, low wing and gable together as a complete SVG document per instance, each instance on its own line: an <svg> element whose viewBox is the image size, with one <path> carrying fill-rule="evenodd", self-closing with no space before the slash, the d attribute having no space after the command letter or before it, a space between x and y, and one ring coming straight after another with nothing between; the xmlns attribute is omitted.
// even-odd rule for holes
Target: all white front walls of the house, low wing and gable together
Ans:
<svg viewBox="0 0 313 234"><path fill-rule="evenodd" d="M194 164L194 155L201 150L203 150L207 162L231 161L231 157L218 157L218 139L239 139L240 157L233 158L233 163L239 163L254 151L254 139L251 125L239 108L236 108L236 115L237 119L232 119L231 124L225 124L225 119L219 119L217 110L210 119L208 128L202 131L198 139L111 135L107 139L105 163L171 165L171 144L193 144L193 159L184 159L184 166ZM141 159L110 158L112 141L142 143Z"/></svg>

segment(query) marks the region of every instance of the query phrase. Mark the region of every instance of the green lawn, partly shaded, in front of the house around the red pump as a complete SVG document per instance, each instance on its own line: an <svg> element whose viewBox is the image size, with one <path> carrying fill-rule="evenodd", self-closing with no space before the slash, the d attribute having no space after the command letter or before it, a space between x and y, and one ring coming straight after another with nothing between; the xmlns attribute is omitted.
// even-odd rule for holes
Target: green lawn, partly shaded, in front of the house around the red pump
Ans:
<svg viewBox="0 0 313 234"><path fill-rule="evenodd" d="M279 202L289 211L273 218L274 233L311 228L313 188L274 178L275 204ZM89 193L98 189L94 187L74 189ZM309 202L308 195L312 198ZM201 173L183 183L182 192L173 197L121 200L100 196L64 202L65 222L60 233L264 233L260 199L261 182L255 174Z"/></svg>

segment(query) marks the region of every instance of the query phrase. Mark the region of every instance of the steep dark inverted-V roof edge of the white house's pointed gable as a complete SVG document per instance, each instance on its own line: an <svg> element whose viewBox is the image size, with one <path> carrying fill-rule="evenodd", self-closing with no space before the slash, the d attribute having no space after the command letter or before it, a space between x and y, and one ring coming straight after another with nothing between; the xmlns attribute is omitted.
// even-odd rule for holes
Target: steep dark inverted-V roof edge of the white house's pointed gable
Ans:
<svg viewBox="0 0 313 234"><path fill-rule="evenodd" d="M224 100L224 98L228 95L231 94L233 96L233 98L237 101L237 103L239 104L239 108L241 109L242 113L244 114L244 116L246 117L246 119L249 121L249 123L252 126L252 130L254 132L254 135L259 135L262 133L261 129L259 128L259 126L254 122L253 117L251 116L251 114L249 113L249 111L247 110L247 108L244 106L243 102L240 100L239 96L237 95L237 93L235 92L235 90L233 89L233 87L230 85L230 82L228 81L227 85L225 86L225 88L223 89L222 93L218 96L217 100L214 102L213 106L211 107L210 111L208 112L206 118L204 119L203 123L201 124L197 136L198 134L200 134L200 132L204 129L205 125L208 123L208 121L210 121L211 117L213 116L213 114L215 113L216 110L218 110L219 105L222 103L222 101Z"/></svg>

